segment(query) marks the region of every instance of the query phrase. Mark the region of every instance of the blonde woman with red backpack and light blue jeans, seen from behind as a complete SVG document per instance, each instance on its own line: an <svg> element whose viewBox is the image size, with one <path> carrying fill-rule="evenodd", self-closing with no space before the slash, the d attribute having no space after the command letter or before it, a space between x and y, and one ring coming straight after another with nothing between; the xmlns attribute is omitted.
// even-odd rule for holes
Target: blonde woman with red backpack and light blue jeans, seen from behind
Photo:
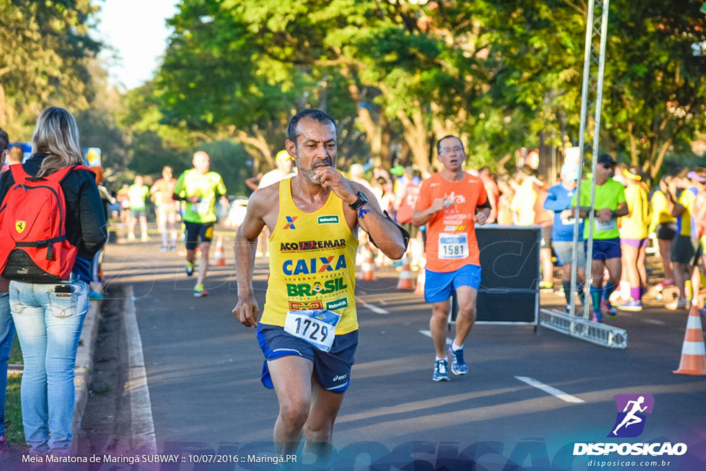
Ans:
<svg viewBox="0 0 706 471"><path fill-rule="evenodd" d="M0 273L11 280L24 357L22 422L30 453L66 455L71 447L73 370L91 259L106 239L76 120L66 109L47 108L32 136L32 157L0 178Z"/></svg>

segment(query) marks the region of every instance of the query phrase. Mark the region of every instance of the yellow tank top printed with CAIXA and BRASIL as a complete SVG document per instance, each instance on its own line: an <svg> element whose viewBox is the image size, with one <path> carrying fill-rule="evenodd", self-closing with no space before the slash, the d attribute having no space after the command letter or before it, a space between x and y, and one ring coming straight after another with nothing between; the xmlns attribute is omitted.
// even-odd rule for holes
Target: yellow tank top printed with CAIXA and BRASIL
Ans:
<svg viewBox="0 0 706 471"><path fill-rule="evenodd" d="M341 314L336 335L358 328L354 237L343 201L333 191L323 207L304 213L292 200L291 178L280 181L280 214L270 235L270 281L261 323L285 326L288 311Z"/></svg>

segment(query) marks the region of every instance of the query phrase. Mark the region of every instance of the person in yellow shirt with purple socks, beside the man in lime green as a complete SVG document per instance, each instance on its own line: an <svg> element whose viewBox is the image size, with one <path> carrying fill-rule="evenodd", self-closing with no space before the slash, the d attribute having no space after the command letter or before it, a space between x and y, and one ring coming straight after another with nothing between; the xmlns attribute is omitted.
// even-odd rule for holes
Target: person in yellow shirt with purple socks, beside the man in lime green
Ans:
<svg viewBox="0 0 706 471"><path fill-rule="evenodd" d="M620 243L623 252L623 270L630 283L630 299L618 309L642 311L642 290L647 282L645 269L645 249L647 249L647 228L650 226L650 202L647 189L642 183L639 167L623 170L623 180L627 186L625 199L628 215L621 217Z"/></svg>

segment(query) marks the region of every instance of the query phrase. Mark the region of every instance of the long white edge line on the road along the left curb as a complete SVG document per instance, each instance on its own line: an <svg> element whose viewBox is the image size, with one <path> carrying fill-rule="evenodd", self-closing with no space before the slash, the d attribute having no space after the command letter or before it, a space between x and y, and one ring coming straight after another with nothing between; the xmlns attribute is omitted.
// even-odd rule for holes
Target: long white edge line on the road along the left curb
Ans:
<svg viewBox="0 0 706 471"><path fill-rule="evenodd" d="M135 296L132 285L126 288L124 304L125 333L128 342L128 381L124 393L130 395L131 429L133 443L142 453L157 453L155 422L152 419L150 388L147 384L142 338L137 325Z"/></svg>

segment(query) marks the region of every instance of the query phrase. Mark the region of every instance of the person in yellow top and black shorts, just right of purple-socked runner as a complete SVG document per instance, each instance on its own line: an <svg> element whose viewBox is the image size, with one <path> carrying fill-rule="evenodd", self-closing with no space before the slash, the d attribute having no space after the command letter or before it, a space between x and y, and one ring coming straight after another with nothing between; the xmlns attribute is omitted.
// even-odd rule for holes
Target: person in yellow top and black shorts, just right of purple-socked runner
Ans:
<svg viewBox="0 0 706 471"><path fill-rule="evenodd" d="M674 272L671 267L671 244L676 235L676 219L671 215L671 209L666 199L667 188L671 181L671 175L664 175L659 179L659 189L652 193L650 207L652 208L652 221L650 222L650 232L657 236L659 255L662 256L664 265L664 281L657 286L660 291L664 288L674 286Z"/></svg>

